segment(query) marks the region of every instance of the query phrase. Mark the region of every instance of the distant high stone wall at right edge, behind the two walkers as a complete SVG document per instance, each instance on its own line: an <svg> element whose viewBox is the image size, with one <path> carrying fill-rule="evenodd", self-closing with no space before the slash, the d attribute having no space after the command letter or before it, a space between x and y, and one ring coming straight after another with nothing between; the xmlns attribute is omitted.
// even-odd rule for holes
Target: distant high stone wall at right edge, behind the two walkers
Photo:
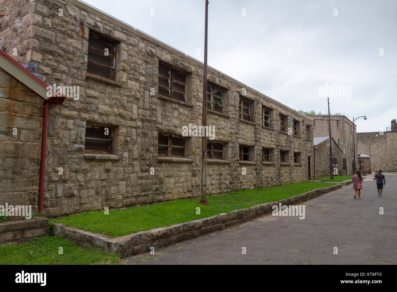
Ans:
<svg viewBox="0 0 397 292"><path fill-rule="evenodd" d="M357 151L371 157L370 171L397 170L397 124L391 120L391 126L378 132L357 133ZM368 172L368 171L367 171Z"/></svg>

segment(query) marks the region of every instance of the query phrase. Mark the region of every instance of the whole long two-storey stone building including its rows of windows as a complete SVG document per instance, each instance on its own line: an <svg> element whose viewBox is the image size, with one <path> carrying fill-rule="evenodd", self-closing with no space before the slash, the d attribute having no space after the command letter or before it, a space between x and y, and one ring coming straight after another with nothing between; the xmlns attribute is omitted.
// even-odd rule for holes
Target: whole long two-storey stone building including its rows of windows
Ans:
<svg viewBox="0 0 397 292"><path fill-rule="evenodd" d="M201 137L183 127L201 125L201 62L76 0L8 0L0 14L2 49L73 92L48 105L46 216L200 195ZM208 194L311 178L312 119L214 68L207 124Z"/></svg>

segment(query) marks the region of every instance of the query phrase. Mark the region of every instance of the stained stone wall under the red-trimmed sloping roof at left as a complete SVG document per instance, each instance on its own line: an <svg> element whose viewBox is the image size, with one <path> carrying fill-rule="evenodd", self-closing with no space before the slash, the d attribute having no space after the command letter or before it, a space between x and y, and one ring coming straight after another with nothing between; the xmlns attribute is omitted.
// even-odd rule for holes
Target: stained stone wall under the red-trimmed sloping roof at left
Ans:
<svg viewBox="0 0 397 292"><path fill-rule="evenodd" d="M0 68L0 205L32 205L37 212L43 104Z"/></svg>

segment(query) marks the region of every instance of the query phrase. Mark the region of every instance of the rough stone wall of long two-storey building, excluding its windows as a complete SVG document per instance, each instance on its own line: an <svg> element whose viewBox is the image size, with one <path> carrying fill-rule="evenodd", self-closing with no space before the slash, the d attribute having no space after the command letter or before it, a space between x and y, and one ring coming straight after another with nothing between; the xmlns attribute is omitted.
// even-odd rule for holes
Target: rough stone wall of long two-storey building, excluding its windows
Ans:
<svg viewBox="0 0 397 292"><path fill-rule="evenodd" d="M63 16L58 10L63 9ZM80 86L80 98L50 104L44 208L57 217L122 208L200 195L201 138L187 138L186 158L157 156L158 133L181 135L182 126L201 124L202 75L200 62L185 56L139 31L93 10L80 2L35 1L29 4L32 24L30 53L19 62L35 62L48 84ZM89 31L118 41L116 81L87 73ZM15 44L22 43L16 39ZM158 62L187 74L187 101L157 94ZM208 81L224 88L224 114L208 112L215 126L215 140L224 143L225 161L208 161L208 194L259 188L307 180L307 157L313 157L312 120L215 70ZM150 95L150 89L155 95ZM246 88L253 101L254 122L238 118L239 95ZM273 129L262 127L261 106L272 108ZM301 134L280 133L278 115L301 123ZM87 123L114 127L112 159L87 158ZM239 162L239 145L252 147L252 161ZM274 148L273 163L262 163L262 147ZM289 151L289 164L279 163L279 150ZM302 163L293 164L293 153ZM96 158L99 158L96 157ZM216 163L218 162L218 163ZM220 162L220 163L219 163ZM312 159L312 176L314 174ZM63 174L58 169L63 168ZM155 174L150 175L150 167ZM242 168L246 168L246 175Z"/></svg>

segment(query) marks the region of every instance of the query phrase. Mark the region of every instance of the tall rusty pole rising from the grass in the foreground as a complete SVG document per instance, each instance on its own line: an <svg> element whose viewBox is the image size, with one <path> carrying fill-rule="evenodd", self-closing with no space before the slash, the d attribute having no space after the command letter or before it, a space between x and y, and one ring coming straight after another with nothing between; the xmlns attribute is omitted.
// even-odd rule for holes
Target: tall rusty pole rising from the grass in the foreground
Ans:
<svg viewBox="0 0 397 292"><path fill-rule="evenodd" d="M202 161L201 161L201 200L200 204L209 205L207 202L207 39L208 39L208 0L205 0L205 25L204 25L204 79L202 81Z"/></svg>

